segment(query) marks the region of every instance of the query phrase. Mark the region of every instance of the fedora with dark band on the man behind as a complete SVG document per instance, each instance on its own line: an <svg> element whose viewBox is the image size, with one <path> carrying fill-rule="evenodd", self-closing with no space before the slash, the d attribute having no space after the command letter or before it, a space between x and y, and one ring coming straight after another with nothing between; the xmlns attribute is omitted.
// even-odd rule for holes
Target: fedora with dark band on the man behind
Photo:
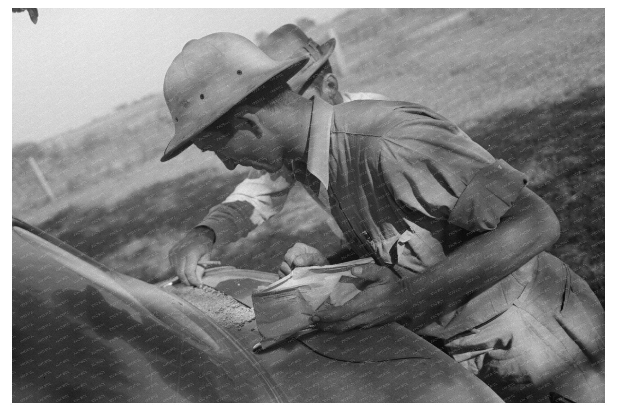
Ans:
<svg viewBox="0 0 617 411"><path fill-rule="evenodd" d="M334 51L334 46L335 39L329 39L320 46L298 26L286 24L263 39L259 48L272 59L279 61L298 55L309 56L309 62L287 82L294 92L299 92L310 76L325 64Z"/></svg>

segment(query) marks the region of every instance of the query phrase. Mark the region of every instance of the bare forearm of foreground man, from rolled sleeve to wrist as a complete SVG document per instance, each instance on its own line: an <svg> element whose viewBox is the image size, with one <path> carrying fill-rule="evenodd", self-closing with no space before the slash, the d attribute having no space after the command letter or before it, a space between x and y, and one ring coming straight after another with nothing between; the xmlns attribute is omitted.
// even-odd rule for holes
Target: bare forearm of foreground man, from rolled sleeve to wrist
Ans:
<svg viewBox="0 0 617 411"><path fill-rule="evenodd" d="M407 286L414 327L453 311L471 293L491 287L557 241L559 226L550 208L542 209L532 198L523 199L518 208L519 213L466 242L419 276L395 266Z"/></svg>

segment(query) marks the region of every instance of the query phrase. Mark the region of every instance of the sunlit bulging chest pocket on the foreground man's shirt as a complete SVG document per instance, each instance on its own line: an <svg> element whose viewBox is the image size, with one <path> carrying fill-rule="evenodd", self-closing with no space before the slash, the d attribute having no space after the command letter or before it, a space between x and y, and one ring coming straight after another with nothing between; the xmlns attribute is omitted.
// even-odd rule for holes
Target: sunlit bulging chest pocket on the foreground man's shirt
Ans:
<svg viewBox="0 0 617 411"><path fill-rule="evenodd" d="M403 232L396 242L398 264L415 272L424 271L445 259L441 243L431 235L429 230L408 223L408 230Z"/></svg>

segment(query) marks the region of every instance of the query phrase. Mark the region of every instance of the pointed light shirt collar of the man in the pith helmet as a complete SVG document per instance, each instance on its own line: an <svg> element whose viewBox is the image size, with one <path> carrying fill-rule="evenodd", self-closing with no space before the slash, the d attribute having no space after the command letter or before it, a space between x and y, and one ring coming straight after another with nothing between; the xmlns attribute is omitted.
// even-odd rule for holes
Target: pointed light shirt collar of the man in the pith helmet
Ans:
<svg viewBox="0 0 617 411"><path fill-rule="evenodd" d="M327 190L329 184L330 129L334 107L319 97L313 97L309 128L307 171L317 177Z"/></svg>

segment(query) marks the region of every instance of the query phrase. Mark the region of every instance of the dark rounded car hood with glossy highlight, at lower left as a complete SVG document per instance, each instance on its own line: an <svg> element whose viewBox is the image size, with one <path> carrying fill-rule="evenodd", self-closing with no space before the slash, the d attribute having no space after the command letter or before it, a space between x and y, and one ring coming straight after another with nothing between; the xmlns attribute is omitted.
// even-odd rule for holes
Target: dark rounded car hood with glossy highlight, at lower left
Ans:
<svg viewBox="0 0 617 411"><path fill-rule="evenodd" d="M12 235L14 401L286 401L250 349L183 299Z"/></svg>

